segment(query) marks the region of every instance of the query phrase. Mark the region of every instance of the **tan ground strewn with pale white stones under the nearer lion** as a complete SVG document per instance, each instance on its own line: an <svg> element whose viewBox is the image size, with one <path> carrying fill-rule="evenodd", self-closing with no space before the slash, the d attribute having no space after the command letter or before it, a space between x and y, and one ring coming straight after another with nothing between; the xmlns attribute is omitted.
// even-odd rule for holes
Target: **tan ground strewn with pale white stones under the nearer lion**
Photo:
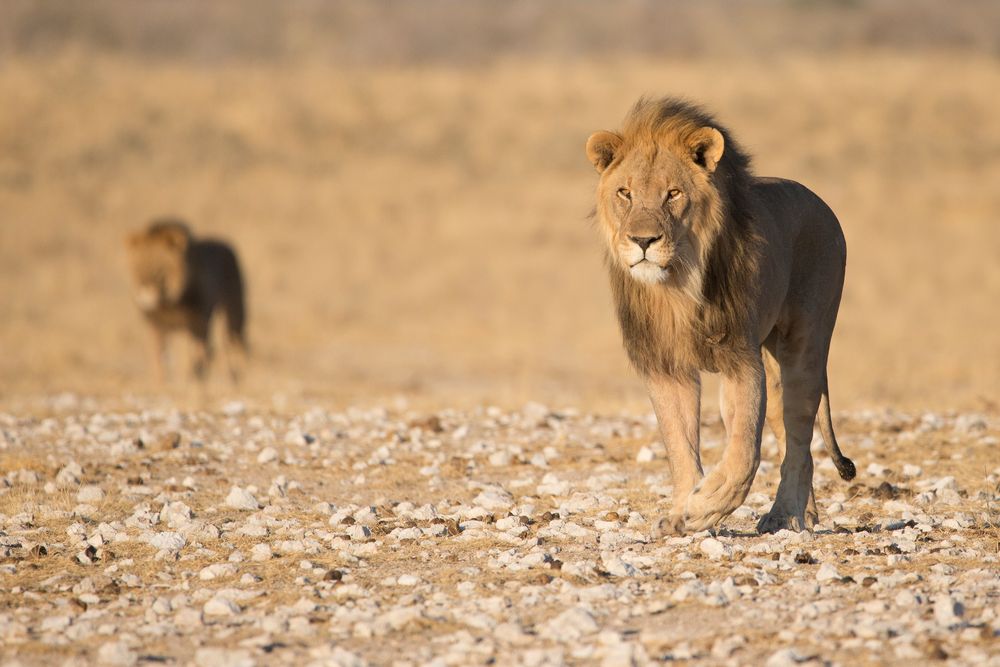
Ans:
<svg viewBox="0 0 1000 667"><path fill-rule="evenodd" d="M766 438L717 533L659 538L646 414L15 412L4 664L1000 664L995 416L839 415L814 533L755 534Z"/></svg>

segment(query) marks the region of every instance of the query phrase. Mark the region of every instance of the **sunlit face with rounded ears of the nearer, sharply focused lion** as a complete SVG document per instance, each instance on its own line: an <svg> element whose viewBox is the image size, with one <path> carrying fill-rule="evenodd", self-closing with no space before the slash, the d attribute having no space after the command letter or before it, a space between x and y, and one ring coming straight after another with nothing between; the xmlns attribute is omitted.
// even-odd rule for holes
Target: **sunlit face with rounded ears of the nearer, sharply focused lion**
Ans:
<svg viewBox="0 0 1000 667"><path fill-rule="evenodd" d="M700 264L699 232L716 201L710 176L722 146L712 128L693 134L626 147L598 132L587 142L601 173L598 209L610 256L637 281L683 283Z"/></svg>

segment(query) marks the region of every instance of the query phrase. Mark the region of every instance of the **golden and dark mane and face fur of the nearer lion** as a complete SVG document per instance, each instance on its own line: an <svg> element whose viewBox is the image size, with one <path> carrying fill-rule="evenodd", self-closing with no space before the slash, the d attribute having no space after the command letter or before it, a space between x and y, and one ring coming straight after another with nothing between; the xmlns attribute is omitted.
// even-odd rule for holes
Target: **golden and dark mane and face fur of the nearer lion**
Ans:
<svg viewBox="0 0 1000 667"><path fill-rule="evenodd" d="M698 164L692 152L703 128L717 129L725 140L714 171ZM597 216L629 359L644 375L740 365L756 353L745 348L752 336L744 334L761 247L749 221L749 158L715 119L674 99L639 100L618 136L621 143L598 187ZM659 175L657 183L650 182L651 173ZM625 238L616 202L623 179L637 197L662 181L684 190L684 209L675 219L666 209L643 211L659 216L664 239L656 250L665 274L630 266L638 249Z"/></svg>

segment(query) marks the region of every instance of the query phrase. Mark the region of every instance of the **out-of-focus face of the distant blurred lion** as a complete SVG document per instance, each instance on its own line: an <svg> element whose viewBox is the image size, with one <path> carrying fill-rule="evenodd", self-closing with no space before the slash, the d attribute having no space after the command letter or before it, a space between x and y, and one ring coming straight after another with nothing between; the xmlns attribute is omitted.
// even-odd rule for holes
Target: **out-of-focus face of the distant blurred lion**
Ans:
<svg viewBox="0 0 1000 667"><path fill-rule="evenodd" d="M180 301L187 286L186 234L138 232L129 236L133 297L143 312Z"/></svg>

